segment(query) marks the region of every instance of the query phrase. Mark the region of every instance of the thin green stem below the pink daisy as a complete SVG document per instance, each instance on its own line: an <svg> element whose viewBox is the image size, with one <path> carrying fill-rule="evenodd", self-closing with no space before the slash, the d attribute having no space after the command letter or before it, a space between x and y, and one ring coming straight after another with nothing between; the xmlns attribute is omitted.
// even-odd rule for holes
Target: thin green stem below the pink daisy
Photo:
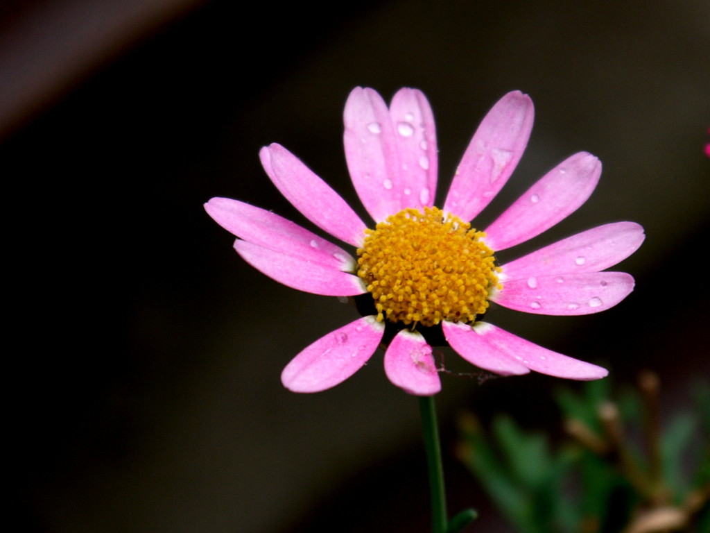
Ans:
<svg viewBox="0 0 710 533"><path fill-rule="evenodd" d="M422 429L424 431L424 448L427 452L427 468L429 469L429 487L432 503L432 533L446 533L447 512L446 495L444 493L444 469L442 468L442 451L439 444L439 429L437 428L437 413L433 396L423 396L419 399L422 414Z"/></svg>

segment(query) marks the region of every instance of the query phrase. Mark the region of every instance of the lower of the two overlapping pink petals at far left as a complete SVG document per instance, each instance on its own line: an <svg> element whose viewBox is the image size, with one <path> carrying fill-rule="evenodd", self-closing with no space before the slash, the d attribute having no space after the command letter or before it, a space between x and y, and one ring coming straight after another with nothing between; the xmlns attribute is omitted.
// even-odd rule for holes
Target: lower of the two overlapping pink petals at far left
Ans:
<svg viewBox="0 0 710 533"><path fill-rule="evenodd" d="M262 274L292 289L324 296L355 296L367 292L358 276L334 266L312 263L241 239L236 239L234 249Z"/></svg>

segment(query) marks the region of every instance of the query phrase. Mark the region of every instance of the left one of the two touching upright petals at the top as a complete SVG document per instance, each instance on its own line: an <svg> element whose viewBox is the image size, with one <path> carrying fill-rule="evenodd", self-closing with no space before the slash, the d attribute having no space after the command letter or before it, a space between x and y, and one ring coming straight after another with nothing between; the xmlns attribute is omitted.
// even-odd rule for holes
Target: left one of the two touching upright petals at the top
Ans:
<svg viewBox="0 0 710 533"><path fill-rule="evenodd" d="M345 158L353 185L367 212L381 222L401 210L401 167L390 112L376 91L356 87L343 119Z"/></svg>

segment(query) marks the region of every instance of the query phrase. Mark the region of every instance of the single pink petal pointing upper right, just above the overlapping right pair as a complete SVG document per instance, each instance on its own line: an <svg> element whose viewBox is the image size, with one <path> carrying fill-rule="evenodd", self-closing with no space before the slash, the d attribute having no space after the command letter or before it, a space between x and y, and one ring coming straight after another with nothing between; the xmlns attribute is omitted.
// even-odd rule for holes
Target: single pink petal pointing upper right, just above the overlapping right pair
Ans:
<svg viewBox="0 0 710 533"><path fill-rule="evenodd" d="M591 154L562 161L486 228L486 244L498 252L540 235L586 202L599 176L601 163Z"/></svg>

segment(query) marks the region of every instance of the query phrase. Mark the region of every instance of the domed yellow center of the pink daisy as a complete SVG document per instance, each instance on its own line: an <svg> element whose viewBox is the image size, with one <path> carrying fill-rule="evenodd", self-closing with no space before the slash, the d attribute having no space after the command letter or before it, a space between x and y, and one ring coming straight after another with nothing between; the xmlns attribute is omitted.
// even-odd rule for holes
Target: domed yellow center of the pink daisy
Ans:
<svg viewBox="0 0 710 533"><path fill-rule="evenodd" d="M493 250L454 215L408 208L366 230L357 275L367 284L377 320L435 325L472 323L498 286Z"/></svg>

